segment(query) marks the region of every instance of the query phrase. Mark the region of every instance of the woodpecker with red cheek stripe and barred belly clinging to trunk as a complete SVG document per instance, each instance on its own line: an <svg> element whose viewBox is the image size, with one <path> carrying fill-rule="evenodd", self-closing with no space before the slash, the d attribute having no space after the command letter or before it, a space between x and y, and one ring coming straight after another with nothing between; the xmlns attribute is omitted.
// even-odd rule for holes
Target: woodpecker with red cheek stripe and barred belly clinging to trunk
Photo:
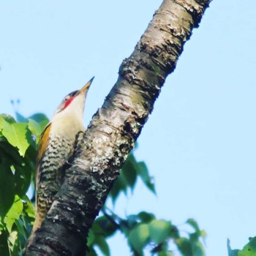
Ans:
<svg viewBox="0 0 256 256"><path fill-rule="evenodd" d="M33 233L41 226L53 197L64 181L65 164L75 149L75 137L84 131L83 110L91 78L79 91L73 91L62 100L49 124L42 132L37 154L36 218Z"/></svg>

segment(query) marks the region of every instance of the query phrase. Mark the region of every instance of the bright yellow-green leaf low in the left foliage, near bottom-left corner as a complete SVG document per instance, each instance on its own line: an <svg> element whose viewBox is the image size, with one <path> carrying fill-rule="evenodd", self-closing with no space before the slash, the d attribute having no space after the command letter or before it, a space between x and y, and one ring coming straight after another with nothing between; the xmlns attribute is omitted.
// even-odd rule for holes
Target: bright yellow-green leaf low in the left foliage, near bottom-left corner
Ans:
<svg viewBox="0 0 256 256"><path fill-rule="evenodd" d="M6 216L4 217L4 223L6 224L9 233L12 232L12 225L15 223L17 219L20 218L22 210L23 203L20 200L20 197L18 197L18 195L15 195L15 201L12 204L10 210L7 212Z"/></svg>

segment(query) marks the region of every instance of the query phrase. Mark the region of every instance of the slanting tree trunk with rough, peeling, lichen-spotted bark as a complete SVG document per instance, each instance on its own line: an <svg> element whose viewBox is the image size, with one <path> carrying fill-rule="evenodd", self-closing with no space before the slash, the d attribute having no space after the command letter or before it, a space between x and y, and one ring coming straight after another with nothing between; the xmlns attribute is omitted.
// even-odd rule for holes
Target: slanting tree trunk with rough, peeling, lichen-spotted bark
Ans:
<svg viewBox="0 0 256 256"><path fill-rule="evenodd" d="M78 136L64 184L26 255L86 255L89 228L210 1L165 0L154 13L102 108Z"/></svg>

